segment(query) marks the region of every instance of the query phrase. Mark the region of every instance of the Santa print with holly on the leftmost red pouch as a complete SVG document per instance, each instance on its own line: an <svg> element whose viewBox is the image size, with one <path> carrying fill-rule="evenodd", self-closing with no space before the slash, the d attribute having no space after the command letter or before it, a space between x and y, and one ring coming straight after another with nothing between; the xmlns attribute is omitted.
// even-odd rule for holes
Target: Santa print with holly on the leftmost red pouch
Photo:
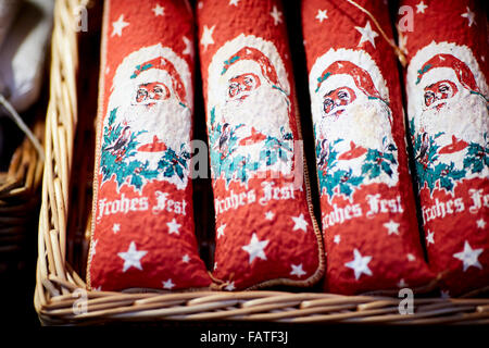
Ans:
<svg viewBox="0 0 489 348"><path fill-rule="evenodd" d="M102 184L115 174L117 187L141 189L152 179L187 186L190 86L187 63L170 48L142 48L123 60L103 121Z"/></svg>

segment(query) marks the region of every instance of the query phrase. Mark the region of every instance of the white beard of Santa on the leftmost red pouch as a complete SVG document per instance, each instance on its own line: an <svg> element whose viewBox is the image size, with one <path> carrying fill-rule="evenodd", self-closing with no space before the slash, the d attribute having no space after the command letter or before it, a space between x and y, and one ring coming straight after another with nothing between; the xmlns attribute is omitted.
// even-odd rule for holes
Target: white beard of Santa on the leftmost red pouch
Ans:
<svg viewBox="0 0 489 348"><path fill-rule="evenodd" d="M117 116L116 122L127 124L131 134L138 134L136 141L140 146L152 144L154 136L158 142L163 141L166 148L171 148L177 154L181 152L181 146L189 151L191 116L190 110L178 103L176 99L165 100L152 107L127 105ZM117 112L117 113L118 113ZM147 170L155 170L161 160L161 152L136 151L135 159L146 163Z"/></svg>

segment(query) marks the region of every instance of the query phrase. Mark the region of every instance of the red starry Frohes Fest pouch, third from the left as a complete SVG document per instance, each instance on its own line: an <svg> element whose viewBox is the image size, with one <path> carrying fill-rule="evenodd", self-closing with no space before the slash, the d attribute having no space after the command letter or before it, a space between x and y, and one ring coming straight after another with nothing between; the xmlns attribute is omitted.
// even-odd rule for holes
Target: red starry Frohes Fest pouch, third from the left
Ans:
<svg viewBox="0 0 489 348"><path fill-rule="evenodd" d="M392 38L387 5L358 3ZM303 1L302 26L325 289L359 294L427 285L432 274L419 243L396 55L374 22L347 1Z"/></svg>

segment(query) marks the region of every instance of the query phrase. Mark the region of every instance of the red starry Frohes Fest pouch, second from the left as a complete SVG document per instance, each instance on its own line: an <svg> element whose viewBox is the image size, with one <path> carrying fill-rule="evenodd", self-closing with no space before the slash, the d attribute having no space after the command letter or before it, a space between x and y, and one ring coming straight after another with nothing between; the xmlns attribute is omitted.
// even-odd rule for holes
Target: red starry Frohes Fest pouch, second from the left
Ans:
<svg viewBox="0 0 489 348"><path fill-rule="evenodd" d="M310 285L322 276L323 252L293 151L299 115L281 3L208 0L197 9L214 175L213 276L226 290Z"/></svg>

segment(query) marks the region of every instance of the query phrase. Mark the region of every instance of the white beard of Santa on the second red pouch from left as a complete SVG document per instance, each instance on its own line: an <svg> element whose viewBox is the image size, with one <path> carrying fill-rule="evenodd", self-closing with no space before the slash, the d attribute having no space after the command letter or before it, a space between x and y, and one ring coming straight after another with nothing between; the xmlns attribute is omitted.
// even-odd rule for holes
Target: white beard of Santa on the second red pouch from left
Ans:
<svg viewBox="0 0 489 348"><path fill-rule="evenodd" d="M258 132L281 139L290 132L289 105L287 97L278 89L262 85L244 100L226 102L221 109L222 123L244 124L248 132L254 127ZM251 134L251 133L250 133Z"/></svg>

